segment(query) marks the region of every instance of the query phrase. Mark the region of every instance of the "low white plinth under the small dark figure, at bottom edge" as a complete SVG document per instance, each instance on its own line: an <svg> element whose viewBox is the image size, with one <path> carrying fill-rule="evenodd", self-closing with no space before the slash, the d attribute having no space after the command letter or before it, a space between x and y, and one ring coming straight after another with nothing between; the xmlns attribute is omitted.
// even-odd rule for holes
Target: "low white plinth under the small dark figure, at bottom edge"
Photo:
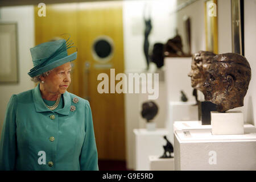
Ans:
<svg viewBox="0 0 256 182"><path fill-rule="evenodd" d="M159 159L159 156L148 156L150 171L174 171L174 158Z"/></svg>

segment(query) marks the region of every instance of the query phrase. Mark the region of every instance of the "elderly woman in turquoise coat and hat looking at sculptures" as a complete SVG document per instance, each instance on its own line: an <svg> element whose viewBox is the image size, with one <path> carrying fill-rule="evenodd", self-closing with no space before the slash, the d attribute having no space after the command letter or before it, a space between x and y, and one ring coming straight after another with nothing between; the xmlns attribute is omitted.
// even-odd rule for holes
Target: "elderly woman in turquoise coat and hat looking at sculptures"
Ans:
<svg viewBox="0 0 256 182"><path fill-rule="evenodd" d="M68 42L68 40L67 40ZM0 143L0 170L98 170L89 102L67 92L71 42L30 49L36 88L14 94L7 105Z"/></svg>

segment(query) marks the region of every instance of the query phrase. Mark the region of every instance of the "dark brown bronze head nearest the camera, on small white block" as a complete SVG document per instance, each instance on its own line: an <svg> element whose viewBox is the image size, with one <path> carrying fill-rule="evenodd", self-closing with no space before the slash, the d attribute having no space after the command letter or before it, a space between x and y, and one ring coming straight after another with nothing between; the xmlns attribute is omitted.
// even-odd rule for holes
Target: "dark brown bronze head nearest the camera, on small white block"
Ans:
<svg viewBox="0 0 256 182"><path fill-rule="evenodd" d="M217 105L218 112L243 106L251 80L251 68L245 57L223 53L213 57L204 83L205 100Z"/></svg>

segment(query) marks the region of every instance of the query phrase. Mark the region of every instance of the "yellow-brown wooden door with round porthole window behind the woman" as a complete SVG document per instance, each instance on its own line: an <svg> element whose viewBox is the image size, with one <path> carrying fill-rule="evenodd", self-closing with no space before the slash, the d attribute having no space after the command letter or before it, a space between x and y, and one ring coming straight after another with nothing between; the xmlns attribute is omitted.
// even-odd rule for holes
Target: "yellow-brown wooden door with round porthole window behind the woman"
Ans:
<svg viewBox="0 0 256 182"><path fill-rule="evenodd" d="M71 3L48 5L47 16L37 16L35 7L36 44L53 36L69 33L76 44L77 60L69 92L86 98L93 114L94 133L99 159L125 160L125 121L123 94L100 94L97 80L100 73L110 79L110 68L124 72L123 23L121 3ZM113 41L113 56L99 61L92 55L94 40L106 36ZM110 88L110 87L109 87Z"/></svg>

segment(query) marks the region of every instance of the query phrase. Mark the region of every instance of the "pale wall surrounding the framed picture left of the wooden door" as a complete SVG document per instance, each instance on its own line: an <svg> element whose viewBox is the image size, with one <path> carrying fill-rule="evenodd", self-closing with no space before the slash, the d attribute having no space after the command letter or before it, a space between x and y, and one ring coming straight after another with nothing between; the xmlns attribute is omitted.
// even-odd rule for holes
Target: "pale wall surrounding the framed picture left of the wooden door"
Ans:
<svg viewBox="0 0 256 182"><path fill-rule="evenodd" d="M34 87L27 73L32 68L30 48L34 46L34 7L2 7L0 9L0 22L18 23L18 69L19 83L0 85L0 134L5 118L6 106L12 94L17 94ZM2 60L1 60L2 61Z"/></svg>

